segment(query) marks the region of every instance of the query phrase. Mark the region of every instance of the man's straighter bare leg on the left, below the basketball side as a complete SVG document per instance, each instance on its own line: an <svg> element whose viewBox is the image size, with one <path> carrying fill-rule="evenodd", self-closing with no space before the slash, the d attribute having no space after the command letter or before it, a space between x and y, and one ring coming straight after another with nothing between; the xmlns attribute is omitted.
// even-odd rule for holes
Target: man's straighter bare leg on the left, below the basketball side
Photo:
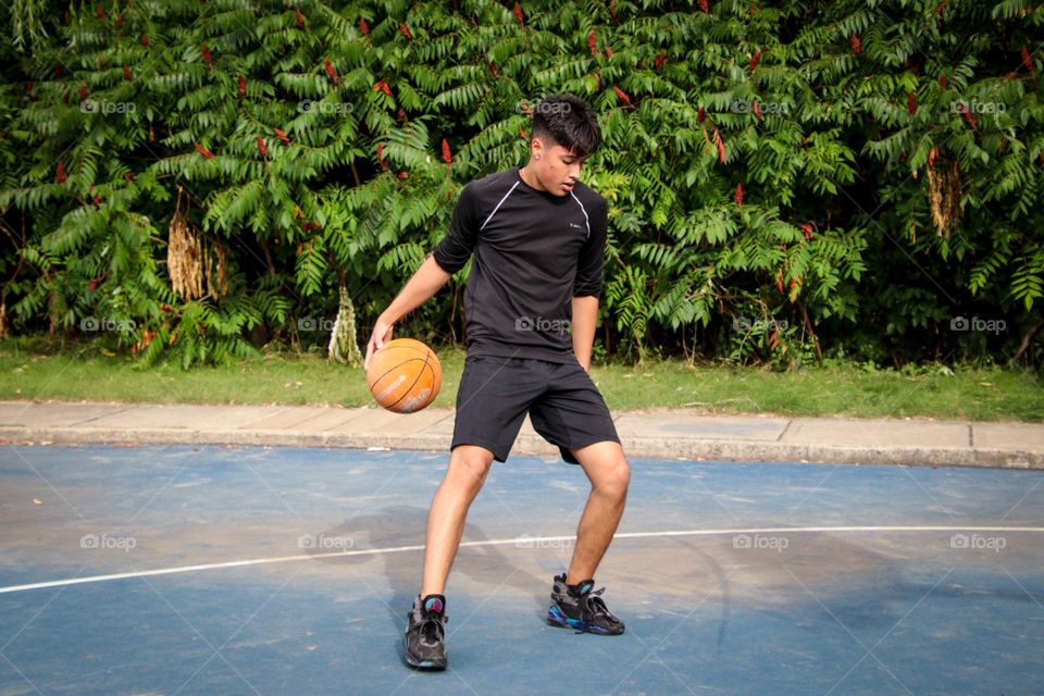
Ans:
<svg viewBox="0 0 1044 696"><path fill-rule="evenodd" d="M493 452L485 447L458 445L450 453L449 468L427 513L421 597L445 593L468 509L486 482L492 463Z"/></svg>

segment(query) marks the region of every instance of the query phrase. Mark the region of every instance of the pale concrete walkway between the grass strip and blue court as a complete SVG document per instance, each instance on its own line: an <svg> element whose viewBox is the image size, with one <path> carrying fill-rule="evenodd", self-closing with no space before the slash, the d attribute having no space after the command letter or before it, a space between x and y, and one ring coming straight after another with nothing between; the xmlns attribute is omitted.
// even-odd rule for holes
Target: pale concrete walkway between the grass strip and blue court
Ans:
<svg viewBox="0 0 1044 696"><path fill-rule="evenodd" d="M1044 469L1044 424L614 413L631 458ZM0 440L446 450L452 409L0 401ZM526 419L513 453L557 457Z"/></svg>

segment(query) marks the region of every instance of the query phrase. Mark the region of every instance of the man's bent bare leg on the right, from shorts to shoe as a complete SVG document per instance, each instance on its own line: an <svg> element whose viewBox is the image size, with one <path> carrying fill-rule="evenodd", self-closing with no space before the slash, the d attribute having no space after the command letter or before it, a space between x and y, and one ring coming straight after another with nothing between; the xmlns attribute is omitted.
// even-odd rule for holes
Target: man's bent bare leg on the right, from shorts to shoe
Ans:
<svg viewBox="0 0 1044 696"><path fill-rule="evenodd" d="M566 582L570 585L595 576L623 515L631 467L619 443L604 442L570 450L587 480L591 495L576 529L576 548Z"/></svg>

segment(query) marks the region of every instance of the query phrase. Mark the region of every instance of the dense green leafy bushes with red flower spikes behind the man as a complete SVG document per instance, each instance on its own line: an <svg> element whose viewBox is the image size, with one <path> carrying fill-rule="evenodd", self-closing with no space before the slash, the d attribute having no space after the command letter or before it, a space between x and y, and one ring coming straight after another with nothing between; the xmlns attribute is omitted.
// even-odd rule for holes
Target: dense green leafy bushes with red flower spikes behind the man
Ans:
<svg viewBox="0 0 1044 696"><path fill-rule="evenodd" d="M573 92L605 133L598 355L1044 361L1040 3L10 17L0 331L189 365L325 340L343 296L365 332L462 186L525 161L526 104ZM467 271L403 331L460 340Z"/></svg>

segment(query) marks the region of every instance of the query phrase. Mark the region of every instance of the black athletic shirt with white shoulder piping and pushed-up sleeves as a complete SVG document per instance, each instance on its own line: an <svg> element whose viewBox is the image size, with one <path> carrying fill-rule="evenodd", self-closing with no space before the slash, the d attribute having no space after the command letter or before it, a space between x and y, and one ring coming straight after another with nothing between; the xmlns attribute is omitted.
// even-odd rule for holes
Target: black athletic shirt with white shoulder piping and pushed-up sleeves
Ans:
<svg viewBox="0 0 1044 696"><path fill-rule="evenodd" d="M469 355L569 362L572 298L601 293L608 208L581 182L559 197L523 182L519 169L464 187L435 262L456 273L474 256Z"/></svg>

